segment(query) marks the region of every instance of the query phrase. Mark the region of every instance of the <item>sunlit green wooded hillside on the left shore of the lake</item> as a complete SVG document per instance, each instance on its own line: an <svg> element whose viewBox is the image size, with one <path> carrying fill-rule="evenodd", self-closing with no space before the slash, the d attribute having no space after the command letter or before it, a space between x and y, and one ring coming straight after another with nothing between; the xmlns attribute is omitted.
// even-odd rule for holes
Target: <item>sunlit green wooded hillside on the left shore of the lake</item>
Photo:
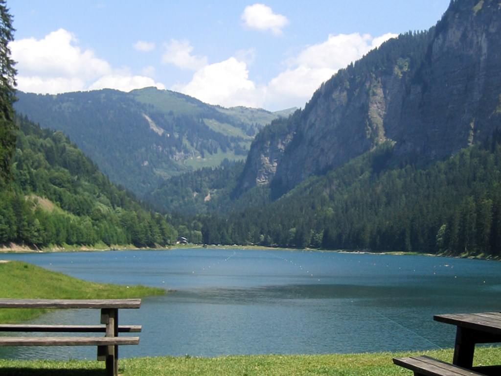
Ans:
<svg viewBox="0 0 501 376"><path fill-rule="evenodd" d="M103 175L60 131L18 117L12 179L0 179L0 244L168 245L177 233Z"/></svg>

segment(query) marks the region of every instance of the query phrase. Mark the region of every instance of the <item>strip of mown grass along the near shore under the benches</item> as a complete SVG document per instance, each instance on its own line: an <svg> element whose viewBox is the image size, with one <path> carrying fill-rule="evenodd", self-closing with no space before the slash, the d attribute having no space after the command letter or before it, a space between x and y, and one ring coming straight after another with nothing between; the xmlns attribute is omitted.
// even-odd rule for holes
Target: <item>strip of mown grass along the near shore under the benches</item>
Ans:
<svg viewBox="0 0 501 376"><path fill-rule="evenodd" d="M120 359L123 376L411 376L412 372L392 363L393 356L423 354L450 361L452 350L328 354L328 355L248 355L198 357L144 357ZM501 348L483 347L475 353L475 364L501 364ZM36 368L37 371L33 372ZM24 361L0 359L5 376L96 375L102 362L87 360Z"/></svg>

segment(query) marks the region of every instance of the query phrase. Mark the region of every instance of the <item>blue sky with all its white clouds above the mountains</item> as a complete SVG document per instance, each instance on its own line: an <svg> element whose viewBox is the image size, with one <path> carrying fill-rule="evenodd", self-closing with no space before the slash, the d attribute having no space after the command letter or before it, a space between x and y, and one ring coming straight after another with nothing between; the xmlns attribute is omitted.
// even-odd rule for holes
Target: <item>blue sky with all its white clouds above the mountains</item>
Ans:
<svg viewBox="0 0 501 376"><path fill-rule="evenodd" d="M338 69L427 30L449 0L8 0L18 88L145 86L225 107L303 107Z"/></svg>

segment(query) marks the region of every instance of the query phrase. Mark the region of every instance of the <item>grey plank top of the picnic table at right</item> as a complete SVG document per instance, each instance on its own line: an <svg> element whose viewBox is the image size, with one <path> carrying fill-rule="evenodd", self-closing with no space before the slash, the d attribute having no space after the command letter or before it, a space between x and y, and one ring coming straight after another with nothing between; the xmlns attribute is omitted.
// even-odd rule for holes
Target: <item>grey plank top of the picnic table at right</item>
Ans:
<svg viewBox="0 0 501 376"><path fill-rule="evenodd" d="M441 314L434 315L433 319L463 328L501 335L501 312Z"/></svg>

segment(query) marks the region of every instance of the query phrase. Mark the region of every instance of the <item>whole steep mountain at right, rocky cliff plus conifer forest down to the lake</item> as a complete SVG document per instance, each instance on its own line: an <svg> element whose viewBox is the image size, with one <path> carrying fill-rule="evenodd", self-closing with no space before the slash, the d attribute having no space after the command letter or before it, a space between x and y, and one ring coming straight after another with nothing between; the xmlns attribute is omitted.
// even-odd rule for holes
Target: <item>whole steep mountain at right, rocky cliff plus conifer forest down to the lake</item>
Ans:
<svg viewBox="0 0 501 376"><path fill-rule="evenodd" d="M263 128L225 185L158 192L184 192L209 244L501 258L500 26L497 2L452 1Z"/></svg>

